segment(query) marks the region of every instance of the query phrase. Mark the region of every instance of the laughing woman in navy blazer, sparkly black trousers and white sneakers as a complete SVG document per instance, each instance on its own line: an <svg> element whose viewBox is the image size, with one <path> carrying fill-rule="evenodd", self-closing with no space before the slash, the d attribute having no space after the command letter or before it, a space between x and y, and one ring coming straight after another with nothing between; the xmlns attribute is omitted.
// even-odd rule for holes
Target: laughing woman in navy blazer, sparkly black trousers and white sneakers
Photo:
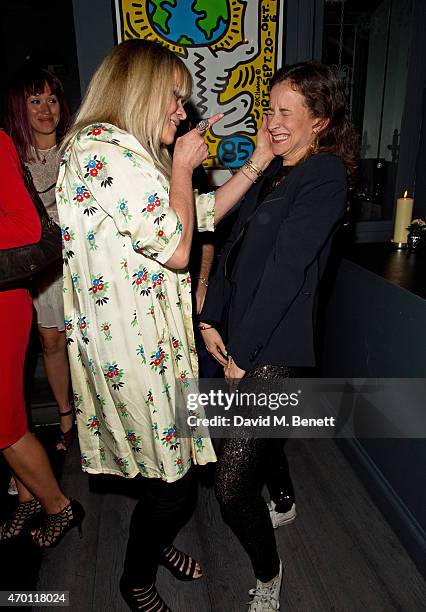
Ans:
<svg viewBox="0 0 426 612"><path fill-rule="evenodd" d="M301 377L315 365L319 281L355 169L356 136L342 85L328 66L305 62L278 70L267 127L275 159L263 176L264 168L250 166L256 184L200 315L206 347L228 379ZM257 578L250 612L279 607L282 565L262 489L265 482L270 488L274 465L282 465L282 446L279 439L227 439L217 465L223 516Z"/></svg>

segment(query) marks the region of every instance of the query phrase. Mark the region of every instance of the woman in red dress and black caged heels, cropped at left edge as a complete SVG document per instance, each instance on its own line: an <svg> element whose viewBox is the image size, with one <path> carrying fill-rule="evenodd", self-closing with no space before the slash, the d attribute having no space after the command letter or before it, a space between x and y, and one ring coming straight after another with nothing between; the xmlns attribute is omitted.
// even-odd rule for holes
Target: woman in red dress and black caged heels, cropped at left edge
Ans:
<svg viewBox="0 0 426 612"><path fill-rule="evenodd" d="M40 239L40 220L22 179L22 168L12 141L0 131L0 249L33 244ZM84 511L59 488L40 442L28 431L24 402L24 361L32 320L29 291L0 292L2 339L2 399L0 402L0 450L18 483L19 503L0 525L0 541L20 535L42 510L43 525L33 540L41 547L57 544L73 526L81 524Z"/></svg>

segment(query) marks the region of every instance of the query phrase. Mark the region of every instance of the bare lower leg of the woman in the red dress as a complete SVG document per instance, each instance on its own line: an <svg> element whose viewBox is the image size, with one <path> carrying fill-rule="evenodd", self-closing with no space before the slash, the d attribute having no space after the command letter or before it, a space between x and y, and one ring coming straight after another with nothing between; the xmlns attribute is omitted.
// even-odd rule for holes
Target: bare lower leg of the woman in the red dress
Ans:
<svg viewBox="0 0 426 612"><path fill-rule="evenodd" d="M29 431L2 452L14 475L24 484L21 490L24 497L31 492L48 514L60 512L68 505L69 500L59 488L46 451Z"/></svg>

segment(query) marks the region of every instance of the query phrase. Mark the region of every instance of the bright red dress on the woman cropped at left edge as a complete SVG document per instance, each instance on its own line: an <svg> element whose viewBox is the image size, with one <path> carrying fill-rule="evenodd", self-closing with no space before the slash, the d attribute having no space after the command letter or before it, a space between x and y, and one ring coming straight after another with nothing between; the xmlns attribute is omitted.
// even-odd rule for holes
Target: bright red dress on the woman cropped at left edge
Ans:
<svg viewBox="0 0 426 612"><path fill-rule="evenodd" d="M38 214L22 180L22 168L10 138L0 130L0 249L32 244L40 239ZM24 402L24 361L32 320L26 289L0 291L0 449L27 431Z"/></svg>

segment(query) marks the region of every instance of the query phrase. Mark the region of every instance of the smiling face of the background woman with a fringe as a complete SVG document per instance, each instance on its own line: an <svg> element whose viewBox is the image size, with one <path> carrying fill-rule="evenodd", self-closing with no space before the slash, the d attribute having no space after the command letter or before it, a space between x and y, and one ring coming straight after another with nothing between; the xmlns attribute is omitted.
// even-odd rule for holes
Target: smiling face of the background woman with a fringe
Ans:
<svg viewBox="0 0 426 612"><path fill-rule="evenodd" d="M56 128L61 118L58 98L46 83L41 93L27 98L27 114L31 129L39 148L56 143Z"/></svg>

